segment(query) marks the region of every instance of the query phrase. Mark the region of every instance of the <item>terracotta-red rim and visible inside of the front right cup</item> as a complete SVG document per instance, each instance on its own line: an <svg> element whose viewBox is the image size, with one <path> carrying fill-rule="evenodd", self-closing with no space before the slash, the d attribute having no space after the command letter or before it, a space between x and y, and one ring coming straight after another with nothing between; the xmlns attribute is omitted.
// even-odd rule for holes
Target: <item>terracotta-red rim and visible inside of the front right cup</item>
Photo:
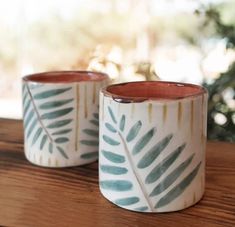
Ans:
<svg viewBox="0 0 235 227"><path fill-rule="evenodd" d="M168 81L140 81L107 86L105 96L117 102L143 102L146 100L179 100L207 93L202 86Z"/></svg>

